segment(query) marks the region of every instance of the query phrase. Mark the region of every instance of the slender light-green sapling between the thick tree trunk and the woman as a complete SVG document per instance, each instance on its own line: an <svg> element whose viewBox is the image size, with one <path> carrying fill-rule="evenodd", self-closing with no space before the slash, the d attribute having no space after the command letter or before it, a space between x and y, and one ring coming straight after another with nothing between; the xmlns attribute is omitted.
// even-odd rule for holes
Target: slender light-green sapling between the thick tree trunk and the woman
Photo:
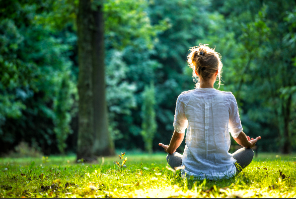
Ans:
<svg viewBox="0 0 296 199"><path fill-rule="evenodd" d="M143 92L143 105L142 105L142 131L141 135L145 142L145 149L148 153L152 153L152 142L154 134L157 130L157 124L155 120L155 90L153 83L150 86L146 86Z"/></svg>

